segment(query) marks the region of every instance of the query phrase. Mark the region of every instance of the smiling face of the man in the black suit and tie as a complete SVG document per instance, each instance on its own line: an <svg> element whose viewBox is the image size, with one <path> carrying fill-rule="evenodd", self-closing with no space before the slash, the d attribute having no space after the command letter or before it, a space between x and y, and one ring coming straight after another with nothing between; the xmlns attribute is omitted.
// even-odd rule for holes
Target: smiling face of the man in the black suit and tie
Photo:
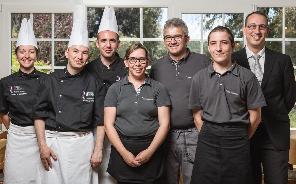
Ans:
<svg viewBox="0 0 296 184"><path fill-rule="evenodd" d="M266 18L263 15L259 14L252 14L250 17L247 19L246 25L249 24L255 24L257 27L256 29L249 29L246 26L242 27L242 32L247 38L247 46L249 49L252 50L252 48L256 50L261 50L264 47L264 41L265 38L268 35L269 28L261 30L259 29L259 25L267 25L268 22Z"/></svg>

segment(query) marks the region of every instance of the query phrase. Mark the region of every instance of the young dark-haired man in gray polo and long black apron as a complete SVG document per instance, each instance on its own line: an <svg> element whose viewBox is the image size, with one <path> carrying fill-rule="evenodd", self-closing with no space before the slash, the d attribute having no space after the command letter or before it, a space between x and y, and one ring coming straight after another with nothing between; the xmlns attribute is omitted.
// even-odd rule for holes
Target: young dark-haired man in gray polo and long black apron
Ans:
<svg viewBox="0 0 296 184"><path fill-rule="evenodd" d="M192 184L252 183L249 139L266 103L255 74L231 60L234 47L228 28L214 28L213 62L192 80L188 108L200 132Z"/></svg>

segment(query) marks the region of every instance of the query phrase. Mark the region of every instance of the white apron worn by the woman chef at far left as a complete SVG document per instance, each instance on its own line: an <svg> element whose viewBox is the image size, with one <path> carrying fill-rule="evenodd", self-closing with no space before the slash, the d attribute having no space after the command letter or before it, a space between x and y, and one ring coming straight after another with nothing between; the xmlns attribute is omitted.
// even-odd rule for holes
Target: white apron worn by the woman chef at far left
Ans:
<svg viewBox="0 0 296 184"><path fill-rule="evenodd" d="M4 183L35 183L39 148L34 126L9 124Z"/></svg>

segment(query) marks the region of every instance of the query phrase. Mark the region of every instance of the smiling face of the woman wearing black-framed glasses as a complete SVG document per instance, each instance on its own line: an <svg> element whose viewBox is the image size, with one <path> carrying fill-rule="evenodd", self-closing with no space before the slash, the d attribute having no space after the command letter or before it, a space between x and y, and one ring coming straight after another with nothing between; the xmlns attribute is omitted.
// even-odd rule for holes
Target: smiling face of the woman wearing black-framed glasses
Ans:
<svg viewBox="0 0 296 184"><path fill-rule="evenodd" d="M147 53L144 49L136 49L128 57L147 58ZM149 64L149 59L145 64L142 64L139 62L139 60L137 60L136 63L130 63L128 58L125 58L124 64L129 69L129 76L133 77L134 79L139 79L145 76L145 70Z"/></svg>

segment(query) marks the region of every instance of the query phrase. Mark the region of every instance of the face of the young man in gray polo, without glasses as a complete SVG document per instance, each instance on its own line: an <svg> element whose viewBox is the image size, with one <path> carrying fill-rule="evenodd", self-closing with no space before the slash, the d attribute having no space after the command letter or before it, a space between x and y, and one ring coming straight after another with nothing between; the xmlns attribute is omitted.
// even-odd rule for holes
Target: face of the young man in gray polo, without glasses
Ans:
<svg viewBox="0 0 296 184"><path fill-rule="evenodd" d="M209 41L207 48L214 62L218 64L231 62L231 52L234 50L235 42L231 45L227 32L212 32Z"/></svg>

